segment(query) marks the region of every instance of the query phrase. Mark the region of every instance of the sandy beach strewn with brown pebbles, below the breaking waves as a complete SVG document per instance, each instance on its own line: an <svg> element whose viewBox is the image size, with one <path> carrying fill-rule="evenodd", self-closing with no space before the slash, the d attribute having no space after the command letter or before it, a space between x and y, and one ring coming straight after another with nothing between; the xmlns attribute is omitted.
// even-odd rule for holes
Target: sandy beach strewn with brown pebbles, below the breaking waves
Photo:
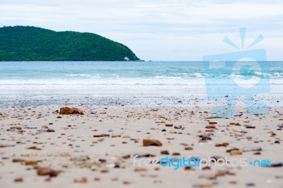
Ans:
<svg viewBox="0 0 283 188"><path fill-rule="evenodd" d="M0 187L283 186L279 97L270 98L270 114L246 116L239 109L233 119L207 119L211 107L203 98L1 101ZM65 106L84 114L59 114ZM144 139L162 146L144 146ZM138 163L166 157L268 159L271 167L212 163L174 170Z"/></svg>

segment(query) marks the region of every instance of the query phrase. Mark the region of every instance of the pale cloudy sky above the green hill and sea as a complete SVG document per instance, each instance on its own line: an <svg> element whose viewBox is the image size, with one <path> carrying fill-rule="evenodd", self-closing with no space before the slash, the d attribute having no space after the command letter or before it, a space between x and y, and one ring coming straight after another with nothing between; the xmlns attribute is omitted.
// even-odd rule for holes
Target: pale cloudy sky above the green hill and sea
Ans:
<svg viewBox="0 0 283 188"><path fill-rule="evenodd" d="M102 35L144 60L201 61L265 49L283 60L282 0L0 0L0 27L33 25ZM241 47L239 28L246 28ZM264 40L246 49L259 35ZM229 37L239 49L223 42Z"/></svg>

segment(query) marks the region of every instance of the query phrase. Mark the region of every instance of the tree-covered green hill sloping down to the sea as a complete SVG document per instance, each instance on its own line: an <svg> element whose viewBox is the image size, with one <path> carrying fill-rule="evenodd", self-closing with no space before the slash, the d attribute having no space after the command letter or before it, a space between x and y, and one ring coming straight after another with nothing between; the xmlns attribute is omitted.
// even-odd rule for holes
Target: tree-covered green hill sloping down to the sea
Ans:
<svg viewBox="0 0 283 188"><path fill-rule="evenodd" d="M0 61L137 61L125 45L93 33L30 26L0 28Z"/></svg>

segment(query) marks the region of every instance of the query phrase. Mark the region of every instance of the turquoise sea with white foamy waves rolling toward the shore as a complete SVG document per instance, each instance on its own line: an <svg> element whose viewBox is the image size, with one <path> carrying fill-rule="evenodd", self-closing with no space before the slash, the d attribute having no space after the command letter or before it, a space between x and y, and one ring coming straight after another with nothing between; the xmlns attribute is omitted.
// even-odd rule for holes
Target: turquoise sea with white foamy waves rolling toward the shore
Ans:
<svg viewBox="0 0 283 188"><path fill-rule="evenodd" d="M268 78L267 94L283 94L283 61L266 63L268 73L242 76ZM202 61L2 61L0 95L206 95L207 79L225 93L231 76L225 68L204 72Z"/></svg>

